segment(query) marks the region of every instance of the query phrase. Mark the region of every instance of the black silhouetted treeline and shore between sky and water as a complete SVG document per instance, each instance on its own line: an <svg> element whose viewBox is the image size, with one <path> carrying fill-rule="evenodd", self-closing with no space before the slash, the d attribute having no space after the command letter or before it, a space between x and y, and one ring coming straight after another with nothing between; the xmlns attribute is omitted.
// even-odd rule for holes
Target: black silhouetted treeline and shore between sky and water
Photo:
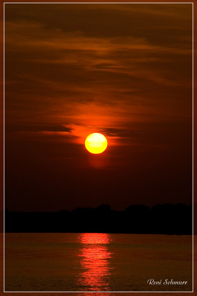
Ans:
<svg viewBox="0 0 197 296"><path fill-rule="evenodd" d="M192 205L178 203L130 205L124 211L110 205L59 212L9 212L5 232L98 232L192 234Z"/></svg>

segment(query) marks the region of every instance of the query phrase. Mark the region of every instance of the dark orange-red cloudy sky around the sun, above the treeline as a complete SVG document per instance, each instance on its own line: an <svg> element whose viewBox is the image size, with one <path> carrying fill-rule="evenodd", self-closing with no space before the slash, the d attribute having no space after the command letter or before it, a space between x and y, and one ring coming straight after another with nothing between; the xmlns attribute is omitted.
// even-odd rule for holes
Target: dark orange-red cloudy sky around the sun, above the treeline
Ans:
<svg viewBox="0 0 197 296"><path fill-rule="evenodd" d="M192 203L192 3L5 4L5 207ZM84 146L102 133L107 149Z"/></svg>

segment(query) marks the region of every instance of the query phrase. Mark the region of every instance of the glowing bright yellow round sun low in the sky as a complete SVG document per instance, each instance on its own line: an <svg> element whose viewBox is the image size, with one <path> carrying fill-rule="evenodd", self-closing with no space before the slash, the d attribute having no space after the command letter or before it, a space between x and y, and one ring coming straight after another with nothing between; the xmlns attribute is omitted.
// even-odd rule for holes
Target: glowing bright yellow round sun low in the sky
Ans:
<svg viewBox="0 0 197 296"><path fill-rule="evenodd" d="M87 151L99 154L105 151L108 146L108 141L102 133L91 133L85 140Z"/></svg>

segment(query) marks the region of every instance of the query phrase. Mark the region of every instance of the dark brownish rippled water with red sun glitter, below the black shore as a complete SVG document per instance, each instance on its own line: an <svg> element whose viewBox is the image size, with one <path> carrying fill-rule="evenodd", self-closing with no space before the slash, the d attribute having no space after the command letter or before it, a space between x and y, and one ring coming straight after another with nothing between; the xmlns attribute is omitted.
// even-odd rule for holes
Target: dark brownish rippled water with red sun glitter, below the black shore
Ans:
<svg viewBox="0 0 197 296"><path fill-rule="evenodd" d="M190 292L192 236L6 233L5 291Z"/></svg>

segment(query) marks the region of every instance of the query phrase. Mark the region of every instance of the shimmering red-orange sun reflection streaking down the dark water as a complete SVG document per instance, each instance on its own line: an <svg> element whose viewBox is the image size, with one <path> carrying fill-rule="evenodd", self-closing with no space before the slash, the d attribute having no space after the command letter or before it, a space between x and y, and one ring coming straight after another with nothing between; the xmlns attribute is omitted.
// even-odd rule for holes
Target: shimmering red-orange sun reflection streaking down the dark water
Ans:
<svg viewBox="0 0 197 296"><path fill-rule="evenodd" d="M110 242L109 234L82 233L79 235L79 242L83 244L79 254L82 268L78 279L80 290L109 291L112 271L112 253L107 247Z"/></svg>

